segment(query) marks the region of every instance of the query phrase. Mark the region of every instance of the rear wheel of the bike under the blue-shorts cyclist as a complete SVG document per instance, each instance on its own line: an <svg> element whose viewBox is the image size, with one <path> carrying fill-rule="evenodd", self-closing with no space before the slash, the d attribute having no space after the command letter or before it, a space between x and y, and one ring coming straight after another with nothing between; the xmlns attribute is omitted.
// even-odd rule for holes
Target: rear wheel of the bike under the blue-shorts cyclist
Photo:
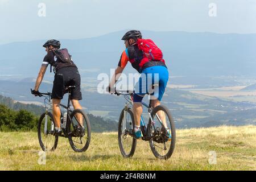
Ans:
<svg viewBox="0 0 256 182"><path fill-rule="evenodd" d="M166 106L156 106L149 119L150 134L154 136L150 140L150 148L158 159L169 159L174 152L176 131L174 119Z"/></svg>

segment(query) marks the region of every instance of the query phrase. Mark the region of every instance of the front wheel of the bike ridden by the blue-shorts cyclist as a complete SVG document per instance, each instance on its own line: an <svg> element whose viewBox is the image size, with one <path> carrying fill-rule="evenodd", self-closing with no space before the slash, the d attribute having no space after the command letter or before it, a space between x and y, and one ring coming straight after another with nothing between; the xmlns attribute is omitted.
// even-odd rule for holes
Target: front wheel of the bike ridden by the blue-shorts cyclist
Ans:
<svg viewBox="0 0 256 182"><path fill-rule="evenodd" d="M125 109L122 110L118 122L118 144L121 154L125 158L130 158L134 155L137 140L133 137L134 117L133 111L128 108L126 119L124 119Z"/></svg>

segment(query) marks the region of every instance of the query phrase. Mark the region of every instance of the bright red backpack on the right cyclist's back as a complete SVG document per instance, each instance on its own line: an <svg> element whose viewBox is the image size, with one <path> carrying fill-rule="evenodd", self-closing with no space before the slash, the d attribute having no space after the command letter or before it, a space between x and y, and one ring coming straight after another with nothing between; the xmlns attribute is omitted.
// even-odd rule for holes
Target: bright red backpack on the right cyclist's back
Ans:
<svg viewBox="0 0 256 182"><path fill-rule="evenodd" d="M143 51L143 59L139 64L139 67L143 67L148 61L163 61L163 53L156 46L156 44L151 39L138 39L137 44L140 50Z"/></svg>

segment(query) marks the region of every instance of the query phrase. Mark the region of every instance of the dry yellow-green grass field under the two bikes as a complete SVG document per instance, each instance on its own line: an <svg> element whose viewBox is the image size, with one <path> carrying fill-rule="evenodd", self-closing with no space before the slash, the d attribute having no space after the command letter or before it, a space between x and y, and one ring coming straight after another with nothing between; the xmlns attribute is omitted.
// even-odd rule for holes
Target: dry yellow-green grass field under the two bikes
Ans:
<svg viewBox="0 0 256 182"><path fill-rule="evenodd" d="M256 170L256 126L177 130L176 148L169 160L158 160L148 142L138 141L133 158L124 159L117 133L92 133L88 151L76 153L68 139L47 152L38 164L36 133L0 133L0 170ZM208 162L217 152L217 164Z"/></svg>

